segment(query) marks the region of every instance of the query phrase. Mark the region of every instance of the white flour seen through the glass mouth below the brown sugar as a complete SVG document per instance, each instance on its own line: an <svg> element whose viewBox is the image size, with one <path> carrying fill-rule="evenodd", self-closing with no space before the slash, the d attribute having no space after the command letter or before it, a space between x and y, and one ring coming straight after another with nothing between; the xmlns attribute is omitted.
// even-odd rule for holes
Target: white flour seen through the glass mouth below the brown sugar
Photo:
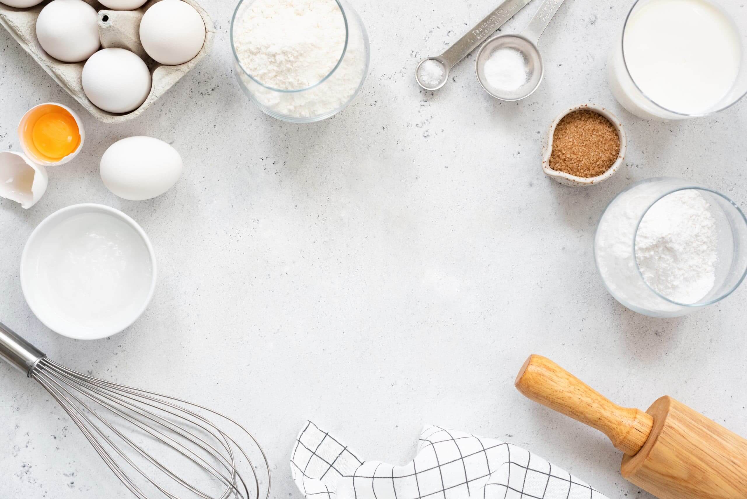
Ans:
<svg viewBox="0 0 747 499"><path fill-rule="evenodd" d="M679 303L695 303L716 281L716 220L697 190L679 190L648 210L636 234L646 283Z"/></svg>

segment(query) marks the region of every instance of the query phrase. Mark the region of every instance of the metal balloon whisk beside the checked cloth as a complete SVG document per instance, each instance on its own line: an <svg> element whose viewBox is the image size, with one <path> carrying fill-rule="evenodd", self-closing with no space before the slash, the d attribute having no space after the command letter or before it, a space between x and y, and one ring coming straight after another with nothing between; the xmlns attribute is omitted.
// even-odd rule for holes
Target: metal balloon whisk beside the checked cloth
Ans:
<svg viewBox="0 0 747 499"><path fill-rule="evenodd" d="M71 371L2 323L0 357L49 391L137 498L260 499L261 491L269 498L264 451L232 419L185 400ZM209 419L216 417L218 423ZM235 430L233 436L227 427Z"/></svg>

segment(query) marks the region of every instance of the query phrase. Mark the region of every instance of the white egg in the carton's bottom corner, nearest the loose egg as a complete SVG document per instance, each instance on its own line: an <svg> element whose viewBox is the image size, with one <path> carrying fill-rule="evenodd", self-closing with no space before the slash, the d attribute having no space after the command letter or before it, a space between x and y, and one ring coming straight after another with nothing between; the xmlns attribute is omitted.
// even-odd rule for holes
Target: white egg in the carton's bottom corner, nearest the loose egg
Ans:
<svg viewBox="0 0 747 499"><path fill-rule="evenodd" d="M110 113L139 108L148 98L152 83L148 66L125 49L96 52L83 66L81 80L90 102Z"/></svg>

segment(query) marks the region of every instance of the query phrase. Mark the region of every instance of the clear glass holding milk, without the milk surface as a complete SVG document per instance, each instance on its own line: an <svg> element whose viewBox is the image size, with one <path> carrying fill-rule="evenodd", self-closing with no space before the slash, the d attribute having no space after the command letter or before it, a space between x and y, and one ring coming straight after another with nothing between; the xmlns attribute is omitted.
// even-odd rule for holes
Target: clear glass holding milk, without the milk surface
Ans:
<svg viewBox="0 0 747 499"><path fill-rule="evenodd" d="M607 78L610 83L610 90L612 90L613 95L620 105L627 109L627 111L630 111L630 113L645 120L684 120L686 118L703 117L718 113L742 99L747 93L747 14L741 2L734 0L722 0L722 3L708 1L711 5L722 10L734 22L734 28L736 28L737 32L742 35L740 37L740 68L737 79L728 93L722 96L710 109L698 114L688 114L660 105L640 89L630 75L627 62L625 61L625 32L631 16L651 1L656 0L636 0L633 3L633 7L630 8L630 12L627 13L627 17L625 18L622 31L613 44L610 59L607 62ZM697 32L692 33L692 36L703 37L703 35ZM707 43L707 40L703 40L703 43ZM672 81L672 86L677 84L677 81Z"/></svg>

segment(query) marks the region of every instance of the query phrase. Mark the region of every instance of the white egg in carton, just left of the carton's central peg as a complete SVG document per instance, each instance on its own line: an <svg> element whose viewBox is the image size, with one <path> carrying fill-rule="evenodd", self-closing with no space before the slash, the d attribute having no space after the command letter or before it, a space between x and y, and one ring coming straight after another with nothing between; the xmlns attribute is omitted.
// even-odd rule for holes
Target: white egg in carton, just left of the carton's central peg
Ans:
<svg viewBox="0 0 747 499"><path fill-rule="evenodd" d="M44 52L63 62L80 62L99 50L99 14L83 0L54 0L37 18Z"/></svg>

